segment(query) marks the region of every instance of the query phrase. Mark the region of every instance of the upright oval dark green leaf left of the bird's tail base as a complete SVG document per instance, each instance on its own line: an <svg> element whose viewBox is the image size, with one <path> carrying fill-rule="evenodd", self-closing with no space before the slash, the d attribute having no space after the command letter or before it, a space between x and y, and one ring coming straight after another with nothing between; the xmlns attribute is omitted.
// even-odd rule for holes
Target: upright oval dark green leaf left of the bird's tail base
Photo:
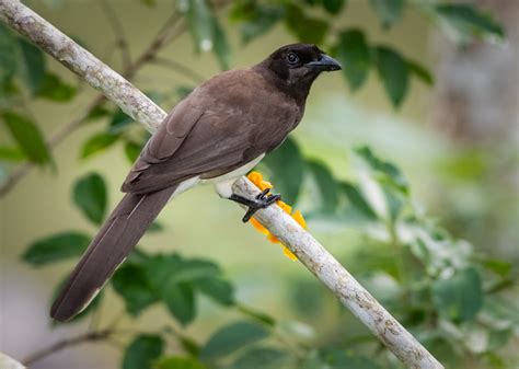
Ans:
<svg viewBox="0 0 519 369"><path fill-rule="evenodd" d="M97 173L80 177L73 188L72 199L83 215L96 224L101 224L106 214L106 185Z"/></svg>

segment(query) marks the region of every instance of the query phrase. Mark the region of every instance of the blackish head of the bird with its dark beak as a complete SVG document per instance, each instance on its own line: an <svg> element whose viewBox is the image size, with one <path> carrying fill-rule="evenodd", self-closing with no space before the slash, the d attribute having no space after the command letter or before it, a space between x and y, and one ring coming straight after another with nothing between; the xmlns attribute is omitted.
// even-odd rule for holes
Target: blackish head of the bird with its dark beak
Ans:
<svg viewBox="0 0 519 369"><path fill-rule="evenodd" d="M284 90L305 92L323 71L341 70L337 60L312 44L291 44L278 48L256 67L269 74L273 82Z"/></svg>

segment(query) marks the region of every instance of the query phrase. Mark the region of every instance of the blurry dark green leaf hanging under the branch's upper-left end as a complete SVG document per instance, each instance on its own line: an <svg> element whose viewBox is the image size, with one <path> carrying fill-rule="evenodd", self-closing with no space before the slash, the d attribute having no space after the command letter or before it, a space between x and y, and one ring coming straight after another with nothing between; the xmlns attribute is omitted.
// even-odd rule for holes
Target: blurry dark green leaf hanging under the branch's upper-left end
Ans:
<svg viewBox="0 0 519 369"><path fill-rule="evenodd" d="M23 68L19 71L21 72L21 77L28 87L31 93L36 95L42 89L45 79L44 54L39 48L24 38L20 38L19 44L23 60Z"/></svg>

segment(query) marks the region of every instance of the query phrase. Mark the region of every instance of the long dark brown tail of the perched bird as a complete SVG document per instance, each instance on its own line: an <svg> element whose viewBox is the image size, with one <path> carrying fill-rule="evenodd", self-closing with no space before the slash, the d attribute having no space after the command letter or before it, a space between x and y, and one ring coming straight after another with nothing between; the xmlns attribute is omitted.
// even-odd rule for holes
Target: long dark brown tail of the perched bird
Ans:
<svg viewBox="0 0 519 369"><path fill-rule="evenodd" d="M86 308L139 242L175 188L123 197L54 301L51 318L65 322Z"/></svg>

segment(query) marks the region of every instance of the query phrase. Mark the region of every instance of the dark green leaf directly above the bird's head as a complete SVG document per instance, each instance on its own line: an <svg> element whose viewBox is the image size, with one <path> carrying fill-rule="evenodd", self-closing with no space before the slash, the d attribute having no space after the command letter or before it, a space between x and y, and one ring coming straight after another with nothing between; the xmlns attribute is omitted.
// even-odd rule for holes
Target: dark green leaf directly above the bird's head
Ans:
<svg viewBox="0 0 519 369"><path fill-rule="evenodd" d="M323 42L330 27L326 21L304 14L303 10L293 3L287 3L285 9L286 25L300 42L316 45Z"/></svg>

